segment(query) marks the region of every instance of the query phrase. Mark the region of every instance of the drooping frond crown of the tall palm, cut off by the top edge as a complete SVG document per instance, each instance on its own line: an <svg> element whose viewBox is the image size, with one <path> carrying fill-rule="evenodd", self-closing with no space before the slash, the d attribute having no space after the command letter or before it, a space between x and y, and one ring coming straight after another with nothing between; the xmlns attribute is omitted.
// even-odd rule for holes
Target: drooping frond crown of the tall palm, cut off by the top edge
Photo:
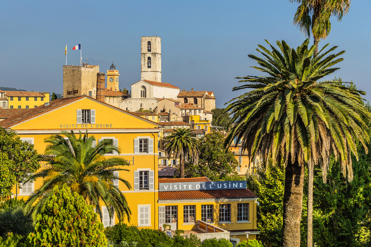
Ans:
<svg viewBox="0 0 371 247"><path fill-rule="evenodd" d="M299 4L294 16L294 24L308 38L313 35L313 44L316 46L314 55L318 53L318 42L326 39L331 31L330 17L335 16L338 21L348 13L351 0L290 0Z"/></svg>

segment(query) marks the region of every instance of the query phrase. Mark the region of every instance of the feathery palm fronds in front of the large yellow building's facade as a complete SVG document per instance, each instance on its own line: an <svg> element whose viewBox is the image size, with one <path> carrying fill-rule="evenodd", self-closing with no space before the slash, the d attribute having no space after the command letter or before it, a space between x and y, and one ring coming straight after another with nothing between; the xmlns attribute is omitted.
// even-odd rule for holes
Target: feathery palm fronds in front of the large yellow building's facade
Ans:
<svg viewBox="0 0 371 247"><path fill-rule="evenodd" d="M43 178L43 185L26 201L25 211L30 211L35 219L37 214L45 210L45 203L53 194L53 188L67 184L72 192L76 191L86 203L96 208L101 220L101 202L107 207L110 218L115 214L122 221L126 215L130 220L131 210L125 196L113 184L114 180L119 180L131 188L127 180L114 174L114 171L129 171L124 168L129 163L123 158L103 156L112 151L119 153L112 140L102 140L95 145L94 136L88 137L87 133L82 136L80 132L77 137L73 131L63 131L45 138L44 142L48 144L45 154L39 155L39 160L46 161L50 166L37 171L25 182ZM33 206L36 201L37 204Z"/></svg>

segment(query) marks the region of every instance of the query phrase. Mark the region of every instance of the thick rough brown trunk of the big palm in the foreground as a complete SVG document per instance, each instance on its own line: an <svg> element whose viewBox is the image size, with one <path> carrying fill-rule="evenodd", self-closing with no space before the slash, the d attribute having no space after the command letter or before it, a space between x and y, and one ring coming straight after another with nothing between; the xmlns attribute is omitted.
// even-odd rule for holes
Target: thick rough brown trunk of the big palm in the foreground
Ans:
<svg viewBox="0 0 371 247"><path fill-rule="evenodd" d="M303 208L304 166L291 157L285 169L285 193L283 195L282 247L300 246L300 221Z"/></svg>

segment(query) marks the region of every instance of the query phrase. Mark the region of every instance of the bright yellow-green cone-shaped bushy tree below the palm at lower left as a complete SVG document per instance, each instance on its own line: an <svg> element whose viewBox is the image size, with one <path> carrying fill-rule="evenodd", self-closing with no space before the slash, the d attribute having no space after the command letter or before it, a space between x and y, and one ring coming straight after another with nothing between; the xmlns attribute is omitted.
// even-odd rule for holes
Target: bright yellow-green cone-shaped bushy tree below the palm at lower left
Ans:
<svg viewBox="0 0 371 247"><path fill-rule="evenodd" d="M30 243L45 247L106 247L104 227L93 206L67 184L55 186L46 200L45 211L37 215Z"/></svg>

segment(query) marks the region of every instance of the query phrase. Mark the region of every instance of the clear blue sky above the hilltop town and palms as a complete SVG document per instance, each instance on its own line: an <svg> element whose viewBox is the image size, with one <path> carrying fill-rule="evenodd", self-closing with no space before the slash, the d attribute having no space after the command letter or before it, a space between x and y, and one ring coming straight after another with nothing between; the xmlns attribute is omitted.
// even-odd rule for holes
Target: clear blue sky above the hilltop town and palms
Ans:
<svg viewBox="0 0 371 247"><path fill-rule="evenodd" d="M237 79L262 75L248 54L257 44L285 40L298 46L305 37L292 24L296 5L286 0L260 1L3 1L0 14L0 86L62 93L64 54L82 57L106 72L114 60L120 88L140 80L140 37L162 37L162 82L180 89L214 91L217 107L242 92ZM353 80L371 100L371 1L352 1L341 23L320 46L345 50L334 76ZM329 79L331 79L329 78Z"/></svg>

